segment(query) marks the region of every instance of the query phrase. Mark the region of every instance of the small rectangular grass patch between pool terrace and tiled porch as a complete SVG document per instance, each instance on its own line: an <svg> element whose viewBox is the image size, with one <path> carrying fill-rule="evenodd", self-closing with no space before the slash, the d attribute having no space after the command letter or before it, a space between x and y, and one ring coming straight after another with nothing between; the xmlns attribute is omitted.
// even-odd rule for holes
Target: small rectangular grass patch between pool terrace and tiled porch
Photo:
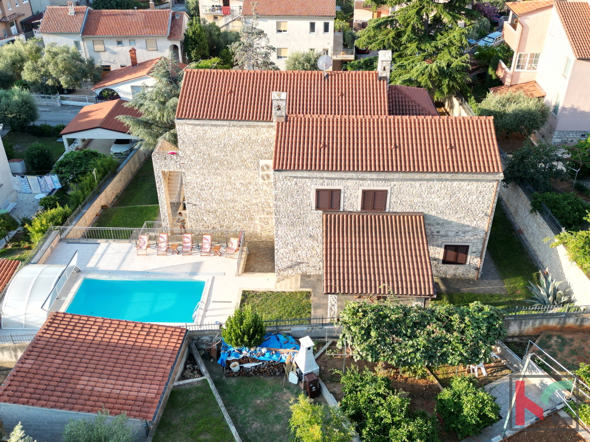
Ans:
<svg viewBox="0 0 590 442"><path fill-rule="evenodd" d="M303 319L312 316L310 292L243 291L240 306L251 305L263 319Z"/></svg>

